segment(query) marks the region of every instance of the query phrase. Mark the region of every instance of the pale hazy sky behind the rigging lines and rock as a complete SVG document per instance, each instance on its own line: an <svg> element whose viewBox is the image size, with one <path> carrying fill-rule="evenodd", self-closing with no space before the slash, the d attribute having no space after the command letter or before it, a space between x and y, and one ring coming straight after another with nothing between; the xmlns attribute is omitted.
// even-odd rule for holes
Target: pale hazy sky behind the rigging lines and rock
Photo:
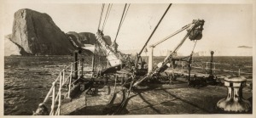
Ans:
<svg viewBox="0 0 256 118"><path fill-rule="evenodd" d="M105 12L108 4L105 5ZM141 49L155 25L164 14L168 4L136 4L132 3L125 21L119 31L117 42L119 49ZM119 20L125 4L113 4L108 17L104 34L114 39L119 26ZM14 14L20 8L31 8L51 16L62 31L96 33L102 4L49 4L26 3L4 5L4 34L12 30ZM105 13L104 13L105 14ZM103 16L104 16L103 14ZM104 17L103 17L104 18ZM192 20L205 20L203 37L197 42L195 52L221 52L224 55L252 55L252 48L237 48L238 46L253 47L253 5L252 4L172 4L172 7L161 22L148 44L153 44L162 38L179 30ZM186 31L160 44L155 50L172 50L184 37ZM189 54L194 42L184 42L180 53Z"/></svg>

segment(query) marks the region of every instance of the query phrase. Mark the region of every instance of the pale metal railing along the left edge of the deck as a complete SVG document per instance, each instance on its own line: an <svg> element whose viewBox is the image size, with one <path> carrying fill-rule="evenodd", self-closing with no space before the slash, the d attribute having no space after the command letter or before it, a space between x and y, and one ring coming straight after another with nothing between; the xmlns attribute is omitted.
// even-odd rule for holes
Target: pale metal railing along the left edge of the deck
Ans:
<svg viewBox="0 0 256 118"><path fill-rule="evenodd" d="M78 70L74 70L74 65L78 63ZM61 93L64 93L63 87L67 84L68 87L66 89L67 98L70 98L70 90L73 84L73 74L78 72L78 76L83 75L83 59L79 59L76 62L67 65L61 72L59 76L52 82L52 86L49 89L46 97L44 98L43 104L45 104L51 97L51 107L49 115L61 115ZM68 75L68 76L67 76ZM59 84L58 84L59 83ZM57 87L58 85L58 87ZM56 90L58 89L58 90Z"/></svg>

